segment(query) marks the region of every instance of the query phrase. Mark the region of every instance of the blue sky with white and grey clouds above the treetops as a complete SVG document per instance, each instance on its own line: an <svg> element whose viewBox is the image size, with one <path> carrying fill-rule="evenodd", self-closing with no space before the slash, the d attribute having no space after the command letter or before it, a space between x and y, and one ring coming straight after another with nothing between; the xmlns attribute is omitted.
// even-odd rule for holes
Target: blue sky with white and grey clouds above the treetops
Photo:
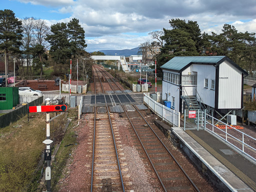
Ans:
<svg viewBox="0 0 256 192"><path fill-rule="evenodd" d="M170 28L171 18L197 21L208 33L221 32L224 23L256 32L256 0L0 0L0 9L49 26L78 18L87 51L137 47L150 40L148 32Z"/></svg>

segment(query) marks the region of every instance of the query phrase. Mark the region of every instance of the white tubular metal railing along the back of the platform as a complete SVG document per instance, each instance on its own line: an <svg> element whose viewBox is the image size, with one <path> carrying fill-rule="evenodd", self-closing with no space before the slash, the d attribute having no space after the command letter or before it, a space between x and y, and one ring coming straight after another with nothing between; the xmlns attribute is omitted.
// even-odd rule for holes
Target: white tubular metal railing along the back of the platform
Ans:
<svg viewBox="0 0 256 192"><path fill-rule="evenodd" d="M254 143L256 143L256 138L253 138L252 136L233 128L231 125L219 121L217 118L210 116L205 111L202 111L201 118L203 121L204 130L216 135L221 140L233 146L235 150L245 154L256 162L256 148L253 147ZM214 125L214 121L219 121L218 124L224 125L225 128L217 127Z"/></svg>

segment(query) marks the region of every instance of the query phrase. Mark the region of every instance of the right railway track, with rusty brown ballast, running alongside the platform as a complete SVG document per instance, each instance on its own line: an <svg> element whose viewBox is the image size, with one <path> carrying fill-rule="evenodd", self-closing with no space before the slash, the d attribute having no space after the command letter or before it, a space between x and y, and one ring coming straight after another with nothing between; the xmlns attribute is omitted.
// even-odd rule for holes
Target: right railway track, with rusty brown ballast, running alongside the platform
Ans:
<svg viewBox="0 0 256 192"><path fill-rule="evenodd" d="M102 68L95 66L97 71L101 72L103 78L107 81L118 98L116 91L123 90L117 85L116 80L111 77ZM124 94L126 97L127 95ZM119 100L119 98L118 98ZM127 100L130 99L127 97ZM162 186L163 191L199 191L183 168L179 165L167 147L163 144L149 123L144 119L136 106L130 101L130 106L124 106L119 100L134 133L136 134L145 155L147 156L151 167ZM130 107L134 110L130 110Z"/></svg>

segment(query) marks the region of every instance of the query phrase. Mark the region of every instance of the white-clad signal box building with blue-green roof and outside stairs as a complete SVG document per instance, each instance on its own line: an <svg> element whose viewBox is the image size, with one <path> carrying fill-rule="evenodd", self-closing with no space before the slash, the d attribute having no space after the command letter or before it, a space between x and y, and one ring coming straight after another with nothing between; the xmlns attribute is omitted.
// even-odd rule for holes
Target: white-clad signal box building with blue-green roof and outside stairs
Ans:
<svg viewBox="0 0 256 192"><path fill-rule="evenodd" d="M170 101L176 111L226 112L243 107L247 72L226 56L175 56L161 69L162 100Z"/></svg>

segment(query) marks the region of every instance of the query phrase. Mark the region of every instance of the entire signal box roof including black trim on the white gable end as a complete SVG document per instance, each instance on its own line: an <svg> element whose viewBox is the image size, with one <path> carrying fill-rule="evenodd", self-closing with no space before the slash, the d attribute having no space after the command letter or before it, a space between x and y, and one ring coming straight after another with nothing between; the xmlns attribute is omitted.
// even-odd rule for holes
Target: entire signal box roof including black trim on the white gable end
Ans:
<svg viewBox="0 0 256 192"><path fill-rule="evenodd" d="M168 62L164 63L160 68L170 69L175 71L182 71L190 64L220 64L224 60L238 68L243 74L247 75L247 72L239 67L235 62L226 56L175 56Z"/></svg>

